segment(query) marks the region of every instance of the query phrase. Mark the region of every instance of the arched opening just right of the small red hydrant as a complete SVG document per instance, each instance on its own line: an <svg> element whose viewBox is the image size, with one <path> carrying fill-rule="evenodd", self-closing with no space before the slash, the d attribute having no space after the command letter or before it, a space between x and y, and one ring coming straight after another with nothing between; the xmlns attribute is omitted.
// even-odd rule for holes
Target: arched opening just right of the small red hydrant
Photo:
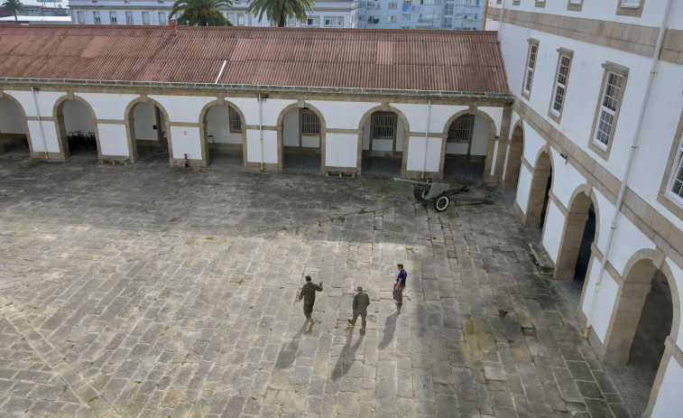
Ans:
<svg viewBox="0 0 683 418"><path fill-rule="evenodd" d="M202 112L202 141L208 165L242 167L245 161L245 117L232 104L210 104Z"/></svg>

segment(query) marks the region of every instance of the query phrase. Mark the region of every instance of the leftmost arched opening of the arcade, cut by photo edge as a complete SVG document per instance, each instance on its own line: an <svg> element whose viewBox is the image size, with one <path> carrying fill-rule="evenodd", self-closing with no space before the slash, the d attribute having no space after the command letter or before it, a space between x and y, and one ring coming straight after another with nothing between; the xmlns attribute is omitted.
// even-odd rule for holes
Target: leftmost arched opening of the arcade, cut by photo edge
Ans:
<svg viewBox="0 0 683 418"><path fill-rule="evenodd" d="M31 144L23 109L12 99L0 98L0 154L30 156Z"/></svg>

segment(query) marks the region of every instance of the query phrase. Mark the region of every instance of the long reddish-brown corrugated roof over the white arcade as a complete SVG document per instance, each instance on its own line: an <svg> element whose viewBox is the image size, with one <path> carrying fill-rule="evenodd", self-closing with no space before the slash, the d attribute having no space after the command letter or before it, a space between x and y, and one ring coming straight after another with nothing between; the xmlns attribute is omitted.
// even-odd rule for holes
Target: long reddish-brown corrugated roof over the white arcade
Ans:
<svg viewBox="0 0 683 418"><path fill-rule="evenodd" d="M0 77L509 93L494 32L0 25Z"/></svg>

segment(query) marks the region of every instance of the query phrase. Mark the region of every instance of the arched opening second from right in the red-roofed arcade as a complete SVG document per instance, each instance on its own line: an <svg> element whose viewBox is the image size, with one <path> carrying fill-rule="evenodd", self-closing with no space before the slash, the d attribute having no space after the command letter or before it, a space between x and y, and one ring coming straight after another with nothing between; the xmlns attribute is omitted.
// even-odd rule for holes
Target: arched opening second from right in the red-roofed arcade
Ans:
<svg viewBox="0 0 683 418"><path fill-rule="evenodd" d="M401 177L408 128L397 112L373 110L362 123L361 172L374 177Z"/></svg>

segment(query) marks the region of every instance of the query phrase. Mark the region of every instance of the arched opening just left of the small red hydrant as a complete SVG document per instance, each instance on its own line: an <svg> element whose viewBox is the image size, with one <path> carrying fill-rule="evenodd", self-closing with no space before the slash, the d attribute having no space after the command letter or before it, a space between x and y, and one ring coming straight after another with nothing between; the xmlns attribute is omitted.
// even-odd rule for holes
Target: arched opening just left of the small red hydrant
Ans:
<svg viewBox="0 0 683 418"><path fill-rule="evenodd" d="M138 99L128 105L126 113L131 160L162 165L170 163L171 141L162 107L152 100Z"/></svg>

